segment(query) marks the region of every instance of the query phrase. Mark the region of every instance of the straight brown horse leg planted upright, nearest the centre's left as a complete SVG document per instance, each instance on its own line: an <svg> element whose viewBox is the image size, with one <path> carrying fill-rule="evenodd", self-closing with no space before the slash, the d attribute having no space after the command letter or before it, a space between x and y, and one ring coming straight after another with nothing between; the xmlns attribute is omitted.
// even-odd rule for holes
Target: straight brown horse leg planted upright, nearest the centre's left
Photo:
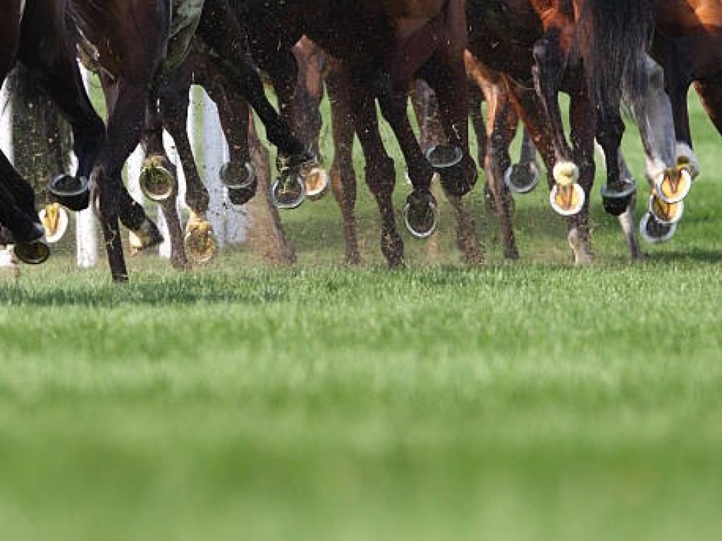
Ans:
<svg viewBox="0 0 722 541"><path fill-rule="evenodd" d="M331 105L331 127L334 131L334 162L331 164L331 188L336 203L341 208L344 222L344 240L346 241L346 263L360 265L356 233L356 172L353 164L354 124L352 107L349 104L349 82L342 67L335 61L329 61L329 73L326 75L326 89ZM379 206L379 209L381 206Z"/></svg>

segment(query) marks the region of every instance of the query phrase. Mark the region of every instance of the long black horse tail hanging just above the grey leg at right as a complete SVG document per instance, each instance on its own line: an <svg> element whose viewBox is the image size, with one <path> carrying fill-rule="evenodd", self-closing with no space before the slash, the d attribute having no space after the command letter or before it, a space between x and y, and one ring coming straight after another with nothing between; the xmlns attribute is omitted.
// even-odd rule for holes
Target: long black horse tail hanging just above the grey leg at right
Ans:
<svg viewBox="0 0 722 541"><path fill-rule="evenodd" d="M574 0L577 48L596 103L644 92L655 0Z"/></svg>

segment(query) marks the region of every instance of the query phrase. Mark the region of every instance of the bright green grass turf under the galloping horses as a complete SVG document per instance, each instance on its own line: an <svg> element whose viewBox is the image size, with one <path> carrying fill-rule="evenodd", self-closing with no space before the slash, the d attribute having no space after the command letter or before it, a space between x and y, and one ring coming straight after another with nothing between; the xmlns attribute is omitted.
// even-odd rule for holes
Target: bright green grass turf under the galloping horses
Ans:
<svg viewBox="0 0 722 541"><path fill-rule="evenodd" d="M446 209L390 273L362 188L360 269L323 201L284 214L295 268L141 258L116 287L56 255L0 282L0 538L719 539L720 139L692 113L703 180L644 264L595 195L572 268L539 189L521 262L474 195L487 265Z"/></svg>

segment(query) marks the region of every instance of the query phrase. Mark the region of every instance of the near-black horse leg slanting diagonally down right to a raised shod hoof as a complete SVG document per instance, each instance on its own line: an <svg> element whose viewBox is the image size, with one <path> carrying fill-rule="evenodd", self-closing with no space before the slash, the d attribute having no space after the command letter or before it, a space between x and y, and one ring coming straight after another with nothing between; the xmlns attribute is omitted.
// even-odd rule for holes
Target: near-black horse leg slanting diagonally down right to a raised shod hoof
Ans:
<svg viewBox="0 0 722 541"><path fill-rule="evenodd" d="M311 157L305 146L293 136L290 126L279 117L264 92L261 77L248 63L245 44L247 32L230 11L227 0L206 0L197 35L208 43L225 61L227 73L256 111L266 127L266 136L279 149L282 160L289 165L308 162Z"/></svg>

